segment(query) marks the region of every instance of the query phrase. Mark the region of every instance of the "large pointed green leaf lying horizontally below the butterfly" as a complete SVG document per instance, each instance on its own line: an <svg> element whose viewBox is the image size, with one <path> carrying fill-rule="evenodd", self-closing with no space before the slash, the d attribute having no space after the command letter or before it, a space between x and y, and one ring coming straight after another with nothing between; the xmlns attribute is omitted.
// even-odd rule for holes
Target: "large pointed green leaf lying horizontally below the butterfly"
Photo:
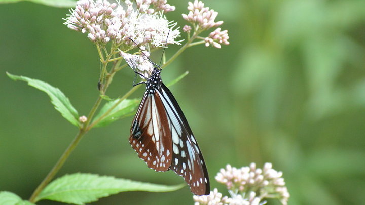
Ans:
<svg viewBox="0 0 365 205"><path fill-rule="evenodd" d="M109 176L76 173L65 175L51 182L35 201L49 199L81 205L124 191L166 192L178 190L183 186L185 185L166 186L116 179Z"/></svg>

